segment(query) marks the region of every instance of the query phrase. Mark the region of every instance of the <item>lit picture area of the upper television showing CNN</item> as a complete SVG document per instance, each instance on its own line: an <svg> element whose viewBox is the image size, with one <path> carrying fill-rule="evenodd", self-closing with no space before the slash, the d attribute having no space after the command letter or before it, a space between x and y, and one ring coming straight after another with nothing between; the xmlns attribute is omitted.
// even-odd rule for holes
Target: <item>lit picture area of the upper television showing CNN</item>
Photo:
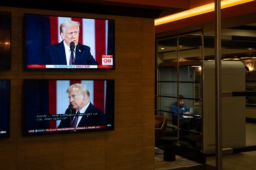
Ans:
<svg viewBox="0 0 256 170"><path fill-rule="evenodd" d="M114 69L114 20L25 14L26 69Z"/></svg>

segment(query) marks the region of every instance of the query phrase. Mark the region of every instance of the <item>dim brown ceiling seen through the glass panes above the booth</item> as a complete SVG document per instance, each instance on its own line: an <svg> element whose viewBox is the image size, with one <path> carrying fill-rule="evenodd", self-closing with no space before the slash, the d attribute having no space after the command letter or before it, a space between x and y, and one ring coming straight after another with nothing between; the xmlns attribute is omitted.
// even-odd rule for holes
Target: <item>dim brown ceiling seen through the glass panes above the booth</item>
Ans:
<svg viewBox="0 0 256 170"><path fill-rule="evenodd" d="M175 41L176 38L158 42L157 50L163 54L164 59L176 58L177 47ZM180 37L179 57L189 60L201 60L201 47L201 32ZM254 59L256 57L256 23L222 29L221 47L222 59ZM167 51L169 52L166 53ZM205 59L214 59L214 54L214 31L205 32L204 57Z"/></svg>

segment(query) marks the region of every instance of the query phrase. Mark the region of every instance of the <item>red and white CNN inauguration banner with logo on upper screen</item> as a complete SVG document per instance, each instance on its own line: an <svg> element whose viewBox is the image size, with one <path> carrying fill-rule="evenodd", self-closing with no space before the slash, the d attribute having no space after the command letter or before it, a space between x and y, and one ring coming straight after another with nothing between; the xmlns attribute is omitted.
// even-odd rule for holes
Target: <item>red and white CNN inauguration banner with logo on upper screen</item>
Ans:
<svg viewBox="0 0 256 170"><path fill-rule="evenodd" d="M113 55L102 55L102 65L27 65L27 68L113 68Z"/></svg>

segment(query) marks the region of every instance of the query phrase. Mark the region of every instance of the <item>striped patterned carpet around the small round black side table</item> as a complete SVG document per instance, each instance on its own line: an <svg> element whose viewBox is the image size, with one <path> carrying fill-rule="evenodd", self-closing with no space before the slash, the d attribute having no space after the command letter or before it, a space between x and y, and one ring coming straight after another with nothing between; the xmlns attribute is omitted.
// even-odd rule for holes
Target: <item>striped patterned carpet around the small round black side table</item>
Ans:
<svg viewBox="0 0 256 170"><path fill-rule="evenodd" d="M155 170L173 170L182 167L192 167L201 165L198 162L191 161L176 155L176 161L167 162L163 160L163 150L155 147Z"/></svg>

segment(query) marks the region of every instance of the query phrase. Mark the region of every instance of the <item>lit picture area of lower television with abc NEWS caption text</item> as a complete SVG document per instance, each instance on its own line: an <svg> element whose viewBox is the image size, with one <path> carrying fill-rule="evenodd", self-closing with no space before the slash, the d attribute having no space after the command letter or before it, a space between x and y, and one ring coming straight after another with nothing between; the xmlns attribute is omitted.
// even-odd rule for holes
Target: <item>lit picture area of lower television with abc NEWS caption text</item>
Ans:
<svg viewBox="0 0 256 170"><path fill-rule="evenodd" d="M23 135L114 130L114 80L24 79Z"/></svg>

